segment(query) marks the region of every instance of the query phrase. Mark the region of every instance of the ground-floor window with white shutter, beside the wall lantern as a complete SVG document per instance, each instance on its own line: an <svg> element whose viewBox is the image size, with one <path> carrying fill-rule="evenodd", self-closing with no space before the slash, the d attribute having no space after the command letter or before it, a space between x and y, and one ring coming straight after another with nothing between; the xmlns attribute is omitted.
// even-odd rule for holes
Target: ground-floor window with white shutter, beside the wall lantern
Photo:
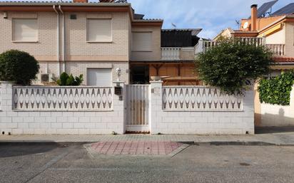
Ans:
<svg viewBox="0 0 294 183"><path fill-rule="evenodd" d="M111 68L88 68L87 85L111 86L112 85Z"/></svg>

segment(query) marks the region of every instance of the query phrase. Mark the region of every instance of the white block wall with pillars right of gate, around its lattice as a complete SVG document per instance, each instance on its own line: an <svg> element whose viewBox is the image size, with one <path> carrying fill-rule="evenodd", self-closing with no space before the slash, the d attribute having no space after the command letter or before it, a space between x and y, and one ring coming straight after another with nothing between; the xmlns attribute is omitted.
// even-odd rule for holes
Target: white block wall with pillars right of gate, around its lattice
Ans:
<svg viewBox="0 0 294 183"><path fill-rule="evenodd" d="M253 90L240 112L163 111L162 105L162 83L151 82L152 134L254 134Z"/></svg>

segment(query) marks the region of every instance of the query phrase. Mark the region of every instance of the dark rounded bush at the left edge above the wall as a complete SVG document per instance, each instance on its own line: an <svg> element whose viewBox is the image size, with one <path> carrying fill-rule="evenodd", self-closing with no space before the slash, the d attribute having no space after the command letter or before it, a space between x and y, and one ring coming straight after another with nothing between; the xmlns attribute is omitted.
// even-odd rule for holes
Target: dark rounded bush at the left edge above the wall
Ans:
<svg viewBox="0 0 294 183"><path fill-rule="evenodd" d="M39 68L38 61L24 51L10 50L0 54L0 80L30 85Z"/></svg>

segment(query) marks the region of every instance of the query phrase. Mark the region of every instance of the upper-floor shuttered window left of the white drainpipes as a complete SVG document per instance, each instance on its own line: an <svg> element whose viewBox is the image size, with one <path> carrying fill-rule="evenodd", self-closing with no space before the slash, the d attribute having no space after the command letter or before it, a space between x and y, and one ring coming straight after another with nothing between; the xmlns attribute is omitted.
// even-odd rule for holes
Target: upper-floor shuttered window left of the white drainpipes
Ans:
<svg viewBox="0 0 294 183"><path fill-rule="evenodd" d="M13 19L12 41L38 41L37 19Z"/></svg>

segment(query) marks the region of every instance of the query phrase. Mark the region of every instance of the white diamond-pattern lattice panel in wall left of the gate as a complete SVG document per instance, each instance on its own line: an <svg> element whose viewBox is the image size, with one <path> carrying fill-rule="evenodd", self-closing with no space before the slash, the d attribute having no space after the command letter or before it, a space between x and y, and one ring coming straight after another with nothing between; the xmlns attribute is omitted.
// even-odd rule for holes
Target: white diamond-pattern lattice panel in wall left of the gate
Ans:
<svg viewBox="0 0 294 183"><path fill-rule="evenodd" d="M15 110L111 110L111 87L14 87Z"/></svg>

